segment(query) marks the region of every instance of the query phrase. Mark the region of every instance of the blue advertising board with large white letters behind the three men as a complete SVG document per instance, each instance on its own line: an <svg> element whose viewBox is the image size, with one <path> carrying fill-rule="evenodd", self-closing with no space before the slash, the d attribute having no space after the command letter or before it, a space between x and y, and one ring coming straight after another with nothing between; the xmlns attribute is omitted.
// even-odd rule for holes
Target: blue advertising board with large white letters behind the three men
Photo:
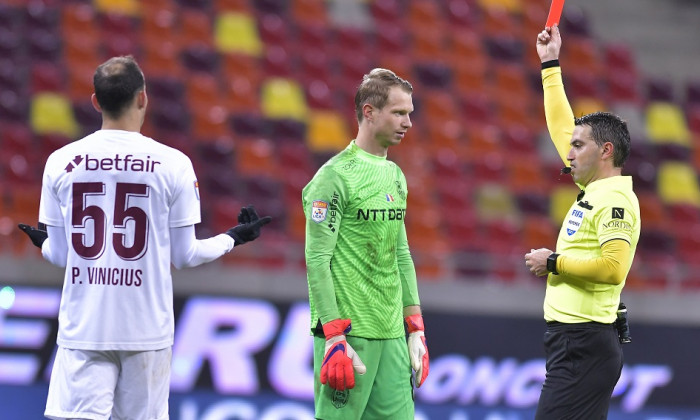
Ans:
<svg viewBox="0 0 700 420"><path fill-rule="evenodd" d="M55 351L59 289L0 299L0 419L41 418ZM176 299L174 420L312 419L306 302ZM417 419L519 420L544 379L541 319L426 311L430 376ZM610 419L700 420L700 330L635 323Z"/></svg>

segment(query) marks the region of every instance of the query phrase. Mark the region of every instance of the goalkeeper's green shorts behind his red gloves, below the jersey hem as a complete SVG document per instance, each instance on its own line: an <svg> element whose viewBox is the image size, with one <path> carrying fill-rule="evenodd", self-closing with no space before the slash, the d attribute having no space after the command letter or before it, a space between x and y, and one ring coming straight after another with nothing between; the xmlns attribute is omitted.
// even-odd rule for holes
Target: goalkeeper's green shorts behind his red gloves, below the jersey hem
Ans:
<svg viewBox="0 0 700 420"><path fill-rule="evenodd" d="M347 337L367 373L355 373L355 387L336 391L321 385L326 339L314 336L314 406L323 420L413 420L411 364L404 338L369 340Z"/></svg>

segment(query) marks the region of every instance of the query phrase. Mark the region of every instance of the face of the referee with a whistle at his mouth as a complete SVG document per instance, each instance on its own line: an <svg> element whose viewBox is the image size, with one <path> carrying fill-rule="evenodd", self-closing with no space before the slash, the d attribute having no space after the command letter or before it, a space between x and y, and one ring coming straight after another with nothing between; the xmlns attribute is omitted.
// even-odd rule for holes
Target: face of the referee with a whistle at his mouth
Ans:
<svg viewBox="0 0 700 420"><path fill-rule="evenodd" d="M566 159L570 162L574 182L585 186L598 179L602 150L591 137L591 127L575 126L570 144Z"/></svg>

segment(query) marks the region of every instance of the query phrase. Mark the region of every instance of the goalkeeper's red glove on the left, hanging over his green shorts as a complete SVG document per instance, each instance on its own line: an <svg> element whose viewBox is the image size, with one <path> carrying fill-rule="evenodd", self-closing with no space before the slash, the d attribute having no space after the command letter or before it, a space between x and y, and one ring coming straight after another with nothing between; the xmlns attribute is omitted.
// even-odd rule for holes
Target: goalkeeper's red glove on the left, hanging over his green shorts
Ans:
<svg viewBox="0 0 700 420"><path fill-rule="evenodd" d="M336 319L323 324L326 336L326 355L321 365L321 383L343 391L355 387L355 371L360 375L367 372L360 356L355 353L345 339L350 332L349 319Z"/></svg>

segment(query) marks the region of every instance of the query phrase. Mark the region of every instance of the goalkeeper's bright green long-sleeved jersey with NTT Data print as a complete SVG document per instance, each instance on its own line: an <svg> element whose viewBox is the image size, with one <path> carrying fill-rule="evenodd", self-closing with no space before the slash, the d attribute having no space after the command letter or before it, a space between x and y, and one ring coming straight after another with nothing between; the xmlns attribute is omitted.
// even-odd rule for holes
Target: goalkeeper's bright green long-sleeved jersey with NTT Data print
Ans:
<svg viewBox="0 0 700 420"><path fill-rule="evenodd" d="M311 327L350 319L349 335L404 336L403 308L420 304L406 238L406 177L353 140L302 192Z"/></svg>

